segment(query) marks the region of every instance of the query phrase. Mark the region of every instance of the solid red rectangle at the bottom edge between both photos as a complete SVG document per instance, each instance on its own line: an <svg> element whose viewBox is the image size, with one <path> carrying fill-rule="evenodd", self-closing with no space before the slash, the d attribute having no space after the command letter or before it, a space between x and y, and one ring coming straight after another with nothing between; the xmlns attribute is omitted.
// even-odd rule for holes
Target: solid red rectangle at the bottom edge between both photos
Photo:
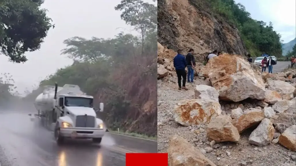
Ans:
<svg viewBox="0 0 296 166"><path fill-rule="evenodd" d="M168 166L168 154L126 153L126 166Z"/></svg>

